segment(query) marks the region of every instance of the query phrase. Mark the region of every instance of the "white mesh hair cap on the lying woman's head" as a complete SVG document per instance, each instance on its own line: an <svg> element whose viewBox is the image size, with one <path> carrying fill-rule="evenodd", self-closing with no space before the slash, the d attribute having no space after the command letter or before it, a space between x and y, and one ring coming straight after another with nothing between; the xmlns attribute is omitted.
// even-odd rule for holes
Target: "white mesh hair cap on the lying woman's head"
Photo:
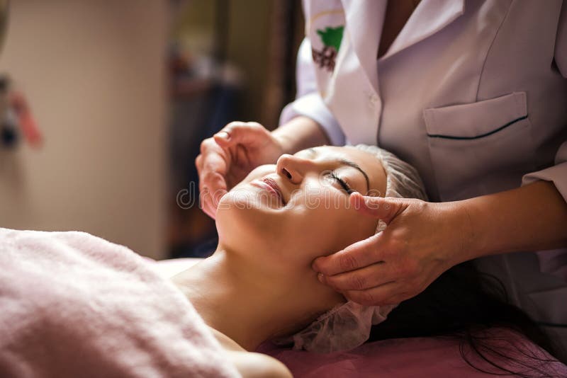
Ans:
<svg viewBox="0 0 567 378"><path fill-rule="evenodd" d="M376 156L386 171L385 197L418 198L427 200L419 173L384 149L358 144L347 146L366 151ZM378 222L376 233L383 231L386 224ZM278 344L293 343L293 349L304 349L315 353L332 353L349 350L362 345L370 336L371 327L386 320L386 316L397 305L363 306L354 302L339 304L322 314L307 328L289 338L276 340Z"/></svg>

